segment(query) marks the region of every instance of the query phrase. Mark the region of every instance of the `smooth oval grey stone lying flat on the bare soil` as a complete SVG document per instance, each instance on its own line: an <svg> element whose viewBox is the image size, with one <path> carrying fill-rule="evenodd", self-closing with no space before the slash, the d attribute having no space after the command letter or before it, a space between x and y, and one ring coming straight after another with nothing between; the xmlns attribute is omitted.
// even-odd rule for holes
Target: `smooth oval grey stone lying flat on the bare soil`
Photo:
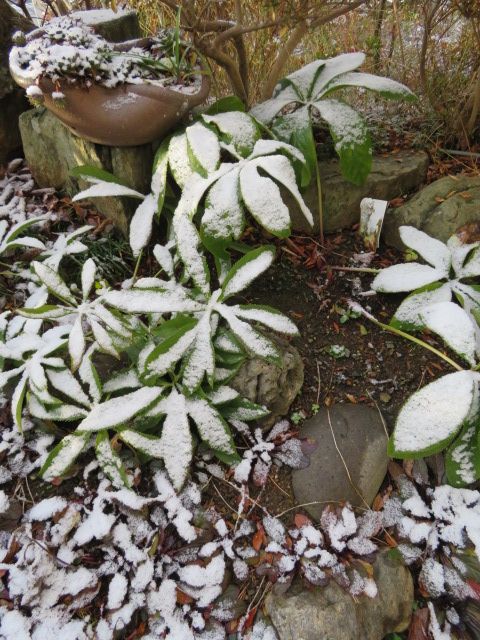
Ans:
<svg viewBox="0 0 480 640"><path fill-rule="evenodd" d="M313 518L320 518L326 502L363 507L373 502L388 464L387 436L376 409L360 404L321 409L305 421L300 435L318 445L310 465L292 473L297 503L320 503L305 507Z"/></svg>

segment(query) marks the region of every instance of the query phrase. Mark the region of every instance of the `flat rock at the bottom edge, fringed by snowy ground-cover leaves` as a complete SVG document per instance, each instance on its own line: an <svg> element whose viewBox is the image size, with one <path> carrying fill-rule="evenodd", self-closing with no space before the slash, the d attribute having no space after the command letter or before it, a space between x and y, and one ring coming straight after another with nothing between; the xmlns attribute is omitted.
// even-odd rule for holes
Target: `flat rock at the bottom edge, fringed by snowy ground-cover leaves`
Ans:
<svg viewBox="0 0 480 640"><path fill-rule="evenodd" d="M412 613L412 576L388 551L378 555L373 567L375 598L353 600L333 581L308 591L298 581L285 594L271 592L265 610L279 640L382 640L405 631Z"/></svg>

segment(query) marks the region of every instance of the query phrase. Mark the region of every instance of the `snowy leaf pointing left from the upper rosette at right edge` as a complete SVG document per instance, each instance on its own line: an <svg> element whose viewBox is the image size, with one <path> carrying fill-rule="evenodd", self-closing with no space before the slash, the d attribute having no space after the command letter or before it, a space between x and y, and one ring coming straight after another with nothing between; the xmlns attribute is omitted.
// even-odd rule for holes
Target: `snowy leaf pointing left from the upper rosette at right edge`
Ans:
<svg viewBox="0 0 480 640"><path fill-rule="evenodd" d="M407 262L382 269L372 282L372 289L381 293L413 291L444 277L442 271L427 264Z"/></svg>

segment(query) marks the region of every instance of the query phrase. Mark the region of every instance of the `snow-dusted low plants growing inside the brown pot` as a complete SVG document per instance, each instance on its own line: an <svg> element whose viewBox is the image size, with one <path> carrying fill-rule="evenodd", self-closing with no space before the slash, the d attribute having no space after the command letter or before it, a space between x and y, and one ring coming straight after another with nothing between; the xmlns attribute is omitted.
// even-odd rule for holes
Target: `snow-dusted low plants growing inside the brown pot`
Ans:
<svg viewBox="0 0 480 640"><path fill-rule="evenodd" d="M38 83L50 80L58 85L61 81L77 83L86 87L100 84L116 87L121 84L157 84L179 86L181 78L175 73L171 60L170 38L165 33L151 41L148 49L139 46L122 51L102 36L95 33L78 16L61 16L48 21L33 34L20 37L16 34L17 46L10 52L10 68L17 78L36 82L27 90L31 98L42 96ZM182 45L183 48L183 45ZM178 52L181 55L181 52ZM180 76L189 71L188 55L182 59ZM192 84L193 74L185 74L187 92ZM199 77L193 78L198 90ZM185 88L185 87L184 87ZM53 99L65 96L59 90L52 92Z"/></svg>

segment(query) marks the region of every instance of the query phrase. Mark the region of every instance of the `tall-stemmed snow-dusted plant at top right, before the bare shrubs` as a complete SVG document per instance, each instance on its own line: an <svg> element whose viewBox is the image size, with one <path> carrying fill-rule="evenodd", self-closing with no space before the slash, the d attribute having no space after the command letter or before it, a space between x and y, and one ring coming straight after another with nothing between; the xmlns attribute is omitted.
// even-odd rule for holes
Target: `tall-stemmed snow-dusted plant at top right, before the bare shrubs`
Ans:
<svg viewBox="0 0 480 640"><path fill-rule="evenodd" d="M327 60L315 60L283 78L273 97L255 106L252 115L272 125L281 140L297 146L308 161L310 174L315 174L317 155L313 136L313 120L320 117L329 129L340 158L344 176L362 184L370 173L372 145L363 118L349 105L331 97L345 87L375 91L385 98L413 100L415 96L404 85L356 71L365 61L363 53L345 53ZM305 181L310 175L305 176Z"/></svg>

